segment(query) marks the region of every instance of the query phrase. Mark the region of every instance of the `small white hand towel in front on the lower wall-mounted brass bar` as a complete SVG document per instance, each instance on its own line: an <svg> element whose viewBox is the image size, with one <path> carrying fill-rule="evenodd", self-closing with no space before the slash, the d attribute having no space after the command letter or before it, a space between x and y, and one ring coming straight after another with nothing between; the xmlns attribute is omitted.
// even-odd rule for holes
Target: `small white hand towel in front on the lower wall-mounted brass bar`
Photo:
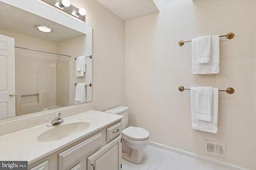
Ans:
<svg viewBox="0 0 256 170"><path fill-rule="evenodd" d="M212 87L198 87L197 119L212 120Z"/></svg>

